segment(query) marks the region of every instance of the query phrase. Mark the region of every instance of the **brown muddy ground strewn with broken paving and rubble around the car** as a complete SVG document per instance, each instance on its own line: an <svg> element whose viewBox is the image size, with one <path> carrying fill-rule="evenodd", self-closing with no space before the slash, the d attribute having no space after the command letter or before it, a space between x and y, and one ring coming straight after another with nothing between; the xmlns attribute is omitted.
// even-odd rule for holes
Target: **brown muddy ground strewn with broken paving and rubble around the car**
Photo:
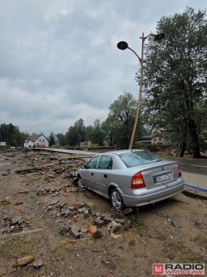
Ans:
<svg viewBox="0 0 207 277"><path fill-rule="evenodd" d="M149 277L153 263L207 264L206 200L180 194L117 215L75 185L86 159L0 151L0 276Z"/></svg>

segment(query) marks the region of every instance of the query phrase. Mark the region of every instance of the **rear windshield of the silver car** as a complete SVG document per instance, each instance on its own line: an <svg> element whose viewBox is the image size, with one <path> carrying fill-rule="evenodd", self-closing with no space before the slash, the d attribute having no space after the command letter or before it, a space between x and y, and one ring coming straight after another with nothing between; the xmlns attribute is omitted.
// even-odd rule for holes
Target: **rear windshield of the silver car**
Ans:
<svg viewBox="0 0 207 277"><path fill-rule="evenodd" d="M155 161L161 161L159 157L148 151L135 151L119 154L119 157L128 168L132 166L140 166L144 163L153 163Z"/></svg>

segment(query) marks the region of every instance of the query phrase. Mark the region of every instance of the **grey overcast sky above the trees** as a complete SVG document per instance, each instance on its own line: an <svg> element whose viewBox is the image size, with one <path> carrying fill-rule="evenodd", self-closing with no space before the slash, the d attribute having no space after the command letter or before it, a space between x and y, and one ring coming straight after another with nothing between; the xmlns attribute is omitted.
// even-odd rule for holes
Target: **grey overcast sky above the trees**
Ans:
<svg viewBox="0 0 207 277"><path fill-rule="evenodd" d="M108 116L126 92L138 98L141 34L206 0L0 0L0 124L46 136ZM145 42L147 43L147 41Z"/></svg>

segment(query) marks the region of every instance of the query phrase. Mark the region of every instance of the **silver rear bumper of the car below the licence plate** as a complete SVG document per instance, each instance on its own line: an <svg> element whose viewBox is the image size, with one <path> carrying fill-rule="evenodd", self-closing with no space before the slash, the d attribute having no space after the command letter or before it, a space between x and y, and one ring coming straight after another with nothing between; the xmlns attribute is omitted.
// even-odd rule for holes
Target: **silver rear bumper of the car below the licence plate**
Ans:
<svg viewBox="0 0 207 277"><path fill-rule="evenodd" d="M172 188L160 190L155 193L150 193L149 195L145 194L145 195L139 195L139 196L135 196L135 195L128 196L128 195L122 194L121 197L126 207L139 207L139 206L144 206L155 202L159 202L164 199L168 199L170 197L178 195L183 190L184 190L184 182L181 184L178 184L177 186L173 186Z"/></svg>

